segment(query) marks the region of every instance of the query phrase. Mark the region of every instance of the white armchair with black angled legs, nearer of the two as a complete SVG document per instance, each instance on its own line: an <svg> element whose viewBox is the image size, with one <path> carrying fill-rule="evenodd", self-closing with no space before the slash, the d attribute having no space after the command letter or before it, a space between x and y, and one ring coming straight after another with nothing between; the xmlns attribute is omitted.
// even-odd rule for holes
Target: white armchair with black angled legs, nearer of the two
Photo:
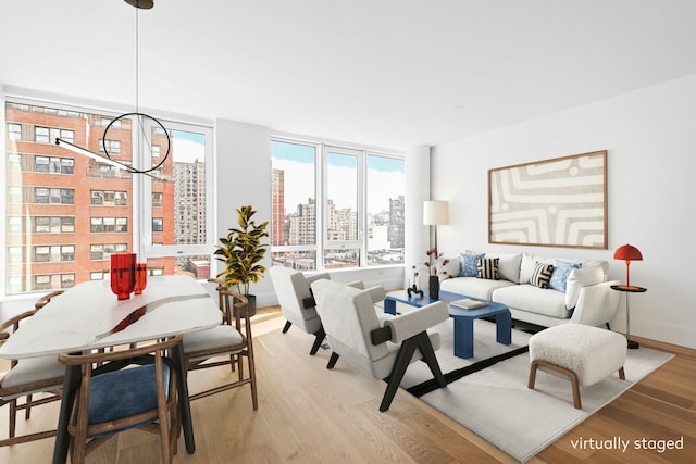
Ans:
<svg viewBox="0 0 696 464"><path fill-rule="evenodd" d="M381 321L368 290L331 280L318 280L311 287L333 351L326 367L334 368L344 356L363 373L387 381L380 411L389 409L412 362L425 361L438 385L446 386L435 356L439 334L426 331L449 317L445 303L438 301Z"/></svg>

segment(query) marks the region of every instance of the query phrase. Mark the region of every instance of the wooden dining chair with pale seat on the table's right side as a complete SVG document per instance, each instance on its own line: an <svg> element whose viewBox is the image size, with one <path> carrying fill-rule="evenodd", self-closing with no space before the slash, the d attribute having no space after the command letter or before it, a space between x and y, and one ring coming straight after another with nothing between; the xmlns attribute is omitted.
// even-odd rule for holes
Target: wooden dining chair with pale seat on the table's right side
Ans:
<svg viewBox="0 0 696 464"><path fill-rule="evenodd" d="M228 366L233 375L229 381L202 391L191 393L189 399L209 397L235 387L249 385L251 388L251 403L253 410L259 407L257 398L257 374L253 361L253 337L251 334L251 318L249 317L249 301L240 293L232 291L224 281L209 279L217 284L216 292L219 308L222 312L222 323L213 328L184 335L183 351L186 371ZM248 374L245 374L245 359Z"/></svg>

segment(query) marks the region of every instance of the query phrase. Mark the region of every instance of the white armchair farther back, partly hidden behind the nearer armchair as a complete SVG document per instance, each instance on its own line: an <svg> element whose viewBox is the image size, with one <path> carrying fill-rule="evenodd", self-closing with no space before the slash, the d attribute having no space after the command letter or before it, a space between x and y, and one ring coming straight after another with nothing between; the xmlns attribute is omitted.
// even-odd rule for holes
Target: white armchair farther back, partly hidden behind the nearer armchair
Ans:
<svg viewBox="0 0 696 464"><path fill-rule="evenodd" d="M272 266L269 272L275 288L275 294L281 304L281 311L286 318L283 334L287 333L293 325L296 325L306 333L313 335L314 343L312 343L309 354L316 354L326 334L316 313L316 302L312 296L310 285L320 279L330 279L328 273L304 276L300 271L285 266Z"/></svg>

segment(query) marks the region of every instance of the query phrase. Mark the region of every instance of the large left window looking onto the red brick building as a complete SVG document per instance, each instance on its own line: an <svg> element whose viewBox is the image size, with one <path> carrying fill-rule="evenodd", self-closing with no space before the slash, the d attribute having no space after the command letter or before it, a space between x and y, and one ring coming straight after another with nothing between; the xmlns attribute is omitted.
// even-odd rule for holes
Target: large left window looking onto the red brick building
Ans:
<svg viewBox="0 0 696 464"><path fill-rule="evenodd" d="M179 268L207 277L216 241L207 211L214 185L206 170L213 155L211 127L160 118L162 129L135 115L16 98L5 100L4 111L3 230L11 265L0 296L103 278L104 261L126 251L157 262L164 274ZM153 180L57 147L57 137L96 153L105 139L110 154L139 168L159 164L165 151L169 158L158 167L162 179ZM179 172L185 174L175 176ZM179 200L187 203L184 215L175 212ZM58 235L72 243L55 244Z"/></svg>

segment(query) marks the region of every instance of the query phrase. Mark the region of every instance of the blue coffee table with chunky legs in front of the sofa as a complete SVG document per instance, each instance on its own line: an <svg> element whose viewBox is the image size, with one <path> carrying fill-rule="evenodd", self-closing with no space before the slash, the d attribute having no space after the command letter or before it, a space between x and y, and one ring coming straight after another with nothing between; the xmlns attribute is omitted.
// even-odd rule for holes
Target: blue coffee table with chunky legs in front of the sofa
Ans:
<svg viewBox="0 0 696 464"><path fill-rule="evenodd" d="M439 301L449 306L449 316L455 324L455 355L458 358L472 358L474 355L474 321L483 317L496 318L496 341L501 344L512 342L512 315L510 310L502 303L486 301L488 304L473 310L464 310L449 304L451 301L462 298L472 298L465 294L451 293L449 291L439 292ZM406 290L387 293L384 300L384 312L396 314L396 303L405 303L411 306L421 308L438 301L430 297L418 294L409 296ZM480 299L476 299L480 300Z"/></svg>

